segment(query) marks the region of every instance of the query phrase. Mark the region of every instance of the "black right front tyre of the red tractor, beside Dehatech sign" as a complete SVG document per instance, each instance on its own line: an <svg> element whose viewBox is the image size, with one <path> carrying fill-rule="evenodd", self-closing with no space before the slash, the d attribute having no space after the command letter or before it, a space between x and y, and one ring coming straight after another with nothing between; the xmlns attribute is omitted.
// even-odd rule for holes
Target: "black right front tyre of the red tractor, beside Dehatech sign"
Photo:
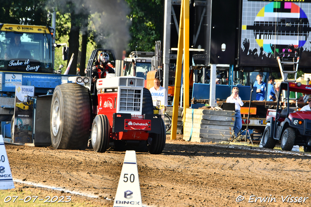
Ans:
<svg viewBox="0 0 311 207"><path fill-rule="evenodd" d="M161 133L160 134L150 134L147 140L147 148L150 154L160 154L162 153L166 142L166 131L163 119L161 119Z"/></svg>

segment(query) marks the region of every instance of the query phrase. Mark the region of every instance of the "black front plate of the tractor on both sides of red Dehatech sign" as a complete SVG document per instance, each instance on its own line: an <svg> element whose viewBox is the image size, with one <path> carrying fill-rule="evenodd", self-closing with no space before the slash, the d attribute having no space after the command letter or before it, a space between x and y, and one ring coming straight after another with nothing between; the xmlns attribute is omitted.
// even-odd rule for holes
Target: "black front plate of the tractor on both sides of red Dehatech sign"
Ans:
<svg viewBox="0 0 311 207"><path fill-rule="evenodd" d="M151 120L151 129L148 130L148 133L161 133L161 115L158 114L144 114L143 119ZM114 113L113 114L113 125L112 132L127 132L128 130L124 129L125 119L131 119L130 113Z"/></svg>

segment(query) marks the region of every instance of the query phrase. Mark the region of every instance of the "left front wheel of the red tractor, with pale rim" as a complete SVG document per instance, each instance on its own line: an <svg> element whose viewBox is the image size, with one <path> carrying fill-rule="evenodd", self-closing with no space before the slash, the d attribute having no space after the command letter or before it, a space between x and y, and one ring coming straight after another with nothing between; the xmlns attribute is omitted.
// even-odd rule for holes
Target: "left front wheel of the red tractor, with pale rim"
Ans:
<svg viewBox="0 0 311 207"><path fill-rule="evenodd" d="M91 143L95 152L105 152L109 145L110 125L106 115L95 116L92 124Z"/></svg>

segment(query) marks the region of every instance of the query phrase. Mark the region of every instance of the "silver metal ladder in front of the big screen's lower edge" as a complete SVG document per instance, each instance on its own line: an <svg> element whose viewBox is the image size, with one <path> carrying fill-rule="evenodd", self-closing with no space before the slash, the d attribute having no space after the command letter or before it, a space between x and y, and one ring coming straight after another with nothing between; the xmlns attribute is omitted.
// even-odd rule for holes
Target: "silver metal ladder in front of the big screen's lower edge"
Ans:
<svg viewBox="0 0 311 207"><path fill-rule="evenodd" d="M297 80L297 71L299 64L299 57L279 57L277 56L277 63L280 68L282 81L283 82L296 82ZM293 67L291 67L293 66ZM294 80L288 80L288 74L294 74ZM289 98L289 97L288 97ZM297 92L295 92L295 97L290 98L290 100L294 100L296 102L296 107L298 108L298 97Z"/></svg>

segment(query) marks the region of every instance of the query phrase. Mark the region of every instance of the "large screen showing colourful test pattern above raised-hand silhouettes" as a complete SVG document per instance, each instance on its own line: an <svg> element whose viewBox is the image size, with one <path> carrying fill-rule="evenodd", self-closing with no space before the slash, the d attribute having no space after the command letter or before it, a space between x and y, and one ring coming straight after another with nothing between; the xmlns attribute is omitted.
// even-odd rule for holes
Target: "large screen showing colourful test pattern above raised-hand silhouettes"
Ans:
<svg viewBox="0 0 311 207"><path fill-rule="evenodd" d="M276 57L311 65L310 0L243 0L241 65L277 66Z"/></svg>

